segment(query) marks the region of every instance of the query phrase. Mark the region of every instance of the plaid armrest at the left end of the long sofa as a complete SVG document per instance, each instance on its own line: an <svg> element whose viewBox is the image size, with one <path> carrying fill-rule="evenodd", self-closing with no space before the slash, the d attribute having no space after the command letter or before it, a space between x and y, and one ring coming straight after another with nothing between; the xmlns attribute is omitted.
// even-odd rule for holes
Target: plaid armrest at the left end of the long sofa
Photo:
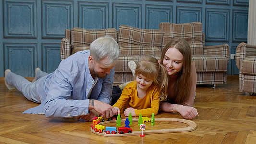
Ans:
<svg viewBox="0 0 256 144"><path fill-rule="evenodd" d="M71 55L71 45L70 45L69 39L63 38L61 40L60 54L61 54L61 60L64 60Z"/></svg>

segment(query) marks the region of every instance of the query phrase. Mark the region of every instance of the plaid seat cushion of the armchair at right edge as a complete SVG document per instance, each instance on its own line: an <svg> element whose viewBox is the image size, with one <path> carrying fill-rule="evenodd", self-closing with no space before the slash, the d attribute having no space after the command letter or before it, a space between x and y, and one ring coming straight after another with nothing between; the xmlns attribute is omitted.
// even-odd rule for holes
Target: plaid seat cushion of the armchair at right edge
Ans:
<svg viewBox="0 0 256 144"><path fill-rule="evenodd" d="M256 56L245 57L242 62L243 74L256 75Z"/></svg>

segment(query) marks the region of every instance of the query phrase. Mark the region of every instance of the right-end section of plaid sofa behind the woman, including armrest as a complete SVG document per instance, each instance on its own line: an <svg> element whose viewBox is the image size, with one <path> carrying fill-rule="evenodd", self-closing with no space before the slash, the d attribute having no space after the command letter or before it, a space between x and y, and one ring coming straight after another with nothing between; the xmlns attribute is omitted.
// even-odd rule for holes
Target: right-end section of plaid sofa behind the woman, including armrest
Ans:
<svg viewBox="0 0 256 144"><path fill-rule="evenodd" d="M174 24L160 23L163 31L163 47L173 38L185 39L191 48L195 62L197 84L225 84L229 63L229 45L205 47L204 33L200 22Z"/></svg>

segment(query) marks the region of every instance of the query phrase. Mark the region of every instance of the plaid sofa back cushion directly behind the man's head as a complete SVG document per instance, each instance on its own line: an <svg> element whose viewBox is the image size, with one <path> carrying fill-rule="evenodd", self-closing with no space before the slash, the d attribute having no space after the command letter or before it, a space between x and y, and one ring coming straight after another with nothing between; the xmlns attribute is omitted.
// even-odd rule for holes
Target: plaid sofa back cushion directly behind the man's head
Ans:
<svg viewBox="0 0 256 144"><path fill-rule="evenodd" d="M101 30L87 30L73 27L70 35L72 54L82 50L89 50L90 44L98 37L111 35L117 40L117 30L115 28Z"/></svg>

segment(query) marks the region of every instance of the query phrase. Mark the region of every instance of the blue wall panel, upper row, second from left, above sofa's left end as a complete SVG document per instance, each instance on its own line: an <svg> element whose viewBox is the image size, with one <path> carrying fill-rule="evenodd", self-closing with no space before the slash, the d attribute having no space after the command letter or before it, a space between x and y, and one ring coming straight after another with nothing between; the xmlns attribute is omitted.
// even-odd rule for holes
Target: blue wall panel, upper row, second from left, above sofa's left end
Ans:
<svg viewBox="0 0 256 144"><path fill-rule="evenodd" d="M42 2L42 37L63 38L65 29L73 27L73 2Z"/></svg>

